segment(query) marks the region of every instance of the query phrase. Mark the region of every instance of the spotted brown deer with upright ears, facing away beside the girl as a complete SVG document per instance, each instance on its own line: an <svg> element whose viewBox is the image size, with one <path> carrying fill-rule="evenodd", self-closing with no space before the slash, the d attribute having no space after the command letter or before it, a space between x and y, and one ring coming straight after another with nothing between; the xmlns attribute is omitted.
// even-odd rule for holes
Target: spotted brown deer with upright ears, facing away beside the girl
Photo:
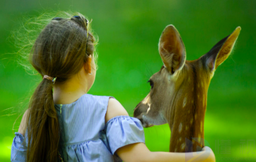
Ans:
<svg viewBox="0 0 256 162"><path fill-rule="evenodd" d="M150 77L150 92L135 107L133 117L144 128L168 123L169 152L202 150L208 87L216 68L229 57L240 30L238 26L197 60L186 60L175 26L168 25L162 32L158 46L163 66Z"/></svg>

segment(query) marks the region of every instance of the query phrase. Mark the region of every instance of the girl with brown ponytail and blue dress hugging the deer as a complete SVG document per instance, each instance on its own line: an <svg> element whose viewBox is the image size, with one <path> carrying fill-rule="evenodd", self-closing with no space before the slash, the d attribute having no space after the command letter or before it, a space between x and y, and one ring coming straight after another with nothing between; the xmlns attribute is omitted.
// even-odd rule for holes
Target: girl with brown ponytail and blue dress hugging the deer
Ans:
<svg viewBox="0 0 256 162"><path fill-rule="evenodd" d="M11 162L215 161L209 147L150 152L139 119L114 97L87 94L96 76L95 44L79 13L53 18L39 34L30 63L43 79L15 132Z"/></svg>

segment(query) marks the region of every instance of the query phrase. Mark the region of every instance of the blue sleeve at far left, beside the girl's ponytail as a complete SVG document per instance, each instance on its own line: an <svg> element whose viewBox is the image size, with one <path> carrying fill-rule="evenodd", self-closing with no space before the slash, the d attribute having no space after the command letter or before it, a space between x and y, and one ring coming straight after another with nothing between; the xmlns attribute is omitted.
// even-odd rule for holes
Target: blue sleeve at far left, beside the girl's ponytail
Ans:
<svg viewBox="0 0 256 162"><path fill-rule="evenodd" d="M11 145L11 162L26 162L26 145L24 145L24 136L15 132L15 137Z"/></svg>

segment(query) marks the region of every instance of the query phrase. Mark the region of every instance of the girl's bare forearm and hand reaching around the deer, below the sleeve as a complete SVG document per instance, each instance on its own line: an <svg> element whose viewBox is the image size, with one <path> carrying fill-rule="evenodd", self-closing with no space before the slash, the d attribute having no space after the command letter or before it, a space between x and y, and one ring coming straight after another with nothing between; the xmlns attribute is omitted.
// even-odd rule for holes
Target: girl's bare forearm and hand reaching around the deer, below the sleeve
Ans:
<svg viewBox="0 0 256 162"><path fill-rule="evenodd" d="M210 147L193 153L150 152L143 143L125 145L116 150L124 162L215 162L215 155Z"/></svg>

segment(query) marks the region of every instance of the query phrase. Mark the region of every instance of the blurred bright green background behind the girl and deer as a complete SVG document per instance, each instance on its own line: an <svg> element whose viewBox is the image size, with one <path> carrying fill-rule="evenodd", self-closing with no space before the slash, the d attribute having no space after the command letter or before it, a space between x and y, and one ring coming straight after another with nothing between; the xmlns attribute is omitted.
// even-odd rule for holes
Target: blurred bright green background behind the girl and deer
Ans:
<svg viewBox="0 0 256 162"><path fill-rule="evenodd" d="M231 56L212 78L204 134L217 161L256 161L256 0L1 0L0 162L10 161L18 115L42 79L18 66L8 37L21 17L43 9L70 9L93 19L99 68L89 94L114 96L131 116L149 92L147 80L162 66L158 41L165 26L176 26L187 60L199 58L241 26ZM168 151L168 125L144 130L151 151Z"/></svg>

